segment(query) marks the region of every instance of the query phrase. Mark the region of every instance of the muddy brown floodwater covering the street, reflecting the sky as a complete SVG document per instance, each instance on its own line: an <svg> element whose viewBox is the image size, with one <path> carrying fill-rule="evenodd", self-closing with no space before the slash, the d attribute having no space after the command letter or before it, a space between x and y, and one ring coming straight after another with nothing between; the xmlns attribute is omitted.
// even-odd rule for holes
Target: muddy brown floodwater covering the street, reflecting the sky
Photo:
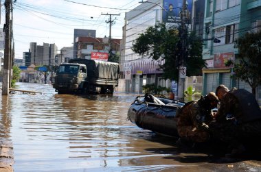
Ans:
<svg viewBox="0 0 261 172"><path fill-rule="evenodd" d="M1 96L1 138L14 171L261 171L259 160L223 160L177 149L174 138L126 121L137 95L58 95L50 85L17 83L43 95Z"/></svg>

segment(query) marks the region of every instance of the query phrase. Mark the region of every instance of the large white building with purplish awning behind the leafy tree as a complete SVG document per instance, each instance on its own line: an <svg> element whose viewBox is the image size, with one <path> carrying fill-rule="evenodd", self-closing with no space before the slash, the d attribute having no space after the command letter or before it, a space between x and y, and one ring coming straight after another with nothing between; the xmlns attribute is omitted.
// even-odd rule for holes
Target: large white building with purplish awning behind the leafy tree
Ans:
<svg viewBox="0 0 261 172"><path fill-rule="evenodd" d="M188 3L188 23L193 18L192 7L193 1L189 0ZM133 40L139 37L139 34L144 33L150 26L156 23L166 22L166 25L178 25L180 21L180 10L182 7L182 0L150 0L141 3L130 12L126 12L126 24L123 27L123 40L121 49L120 60L120 91L141 93L142 86L145 84L155 84L157 86L177 86L177 82L170 81L170 79L162 78L162 71L158 67L163 62L158 62L148 58L148 56L139 56L139 54L132 51ZM170 6L173 8L173 14L170 16ZM204 14L204 10L197 8L198 15ZM201 15L203 15L201 14ZM192 20L193 21L193 20ZM203 27L203 17L201 21L196 21L196 28ZM191 25L189 25L191 28ZM128 74L127 74L128 73ZM201 79L194 79L201 81ZM191 83L186 81L185 83ZM187 86L185 86L187 87Z"/></svg>

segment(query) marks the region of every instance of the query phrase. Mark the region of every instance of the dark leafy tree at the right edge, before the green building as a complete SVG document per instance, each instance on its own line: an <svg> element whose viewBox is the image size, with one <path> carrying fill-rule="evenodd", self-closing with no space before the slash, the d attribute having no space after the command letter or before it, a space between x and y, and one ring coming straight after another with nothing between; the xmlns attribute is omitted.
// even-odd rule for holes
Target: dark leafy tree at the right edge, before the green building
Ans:
<svg viewBox="0 0 261 172"><path fill-rule="evenodd" d="M235 41L238 48L236 62L227 62L227 66L234 64L234 77L247 82L256 95L256 88L261 84L261 32L247 33Z"/></svg>

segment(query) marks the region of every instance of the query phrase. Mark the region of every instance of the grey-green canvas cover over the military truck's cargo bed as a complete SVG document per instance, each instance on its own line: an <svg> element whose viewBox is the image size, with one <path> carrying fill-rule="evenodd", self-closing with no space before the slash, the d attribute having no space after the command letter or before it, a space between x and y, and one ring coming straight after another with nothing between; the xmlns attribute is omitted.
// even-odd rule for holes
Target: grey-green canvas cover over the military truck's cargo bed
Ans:
<svg viewBox="0 0 261 172"><path fill-rule="evenodd" d="M120 71L119 64L115 62L75 58L69 60L69 63L85 64L87 66L88 77L118 79L118 74Z"/></svg>

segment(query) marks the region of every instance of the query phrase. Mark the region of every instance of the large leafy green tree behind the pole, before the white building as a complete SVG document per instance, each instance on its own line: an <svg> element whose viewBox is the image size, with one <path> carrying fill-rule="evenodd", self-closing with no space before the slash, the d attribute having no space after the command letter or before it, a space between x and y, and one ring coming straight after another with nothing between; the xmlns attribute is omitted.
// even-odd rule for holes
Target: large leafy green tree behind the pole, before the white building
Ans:
<svg viewBox="0 0 261 172"><path fill-rule="evenodd" d="M133 41L132 50L142 56L149 56L154 60L165 60L159 66L165 79L177 81L179 78L179 66L181 65L181 32L180 27L166 27L165 23L157 23L148 27L146 32L139 34ZM205 66L202 59L203 41L193 32L185 33L185 66L187 75L201 75L201 69Z"/></svg>

